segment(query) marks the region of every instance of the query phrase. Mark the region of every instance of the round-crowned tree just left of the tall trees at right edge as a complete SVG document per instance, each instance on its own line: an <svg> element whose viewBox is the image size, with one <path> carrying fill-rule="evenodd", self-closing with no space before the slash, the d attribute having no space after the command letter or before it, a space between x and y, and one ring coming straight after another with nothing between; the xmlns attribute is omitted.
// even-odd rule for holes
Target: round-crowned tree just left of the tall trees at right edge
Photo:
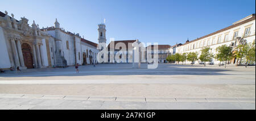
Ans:
<svg viewBox="0 0 256 121"><path fill-rule="evenodd" d="M220 61L225 61L225 68L226 68L226 61L231 60L233 58L232 47L228 47L226 45L221 45L217 47L217 59Z"/></svg>

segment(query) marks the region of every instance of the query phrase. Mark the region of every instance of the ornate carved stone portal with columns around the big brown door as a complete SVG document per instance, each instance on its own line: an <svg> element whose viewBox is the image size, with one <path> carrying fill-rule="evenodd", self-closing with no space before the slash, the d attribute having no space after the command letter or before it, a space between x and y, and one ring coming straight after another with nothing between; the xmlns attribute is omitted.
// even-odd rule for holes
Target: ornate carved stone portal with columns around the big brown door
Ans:
<svg viewBox="0 0 256 121"><path fill-rule="evenodd" d="M32 27L28 25L28 19L21 20L12 18L5 12L5 16L0 24L5 31L6 44L9 47L9 58L11 66L15 69L44 68L44 59L42 53L42 39L46 36L41 35L41 31L35 21Z"/></svg>

